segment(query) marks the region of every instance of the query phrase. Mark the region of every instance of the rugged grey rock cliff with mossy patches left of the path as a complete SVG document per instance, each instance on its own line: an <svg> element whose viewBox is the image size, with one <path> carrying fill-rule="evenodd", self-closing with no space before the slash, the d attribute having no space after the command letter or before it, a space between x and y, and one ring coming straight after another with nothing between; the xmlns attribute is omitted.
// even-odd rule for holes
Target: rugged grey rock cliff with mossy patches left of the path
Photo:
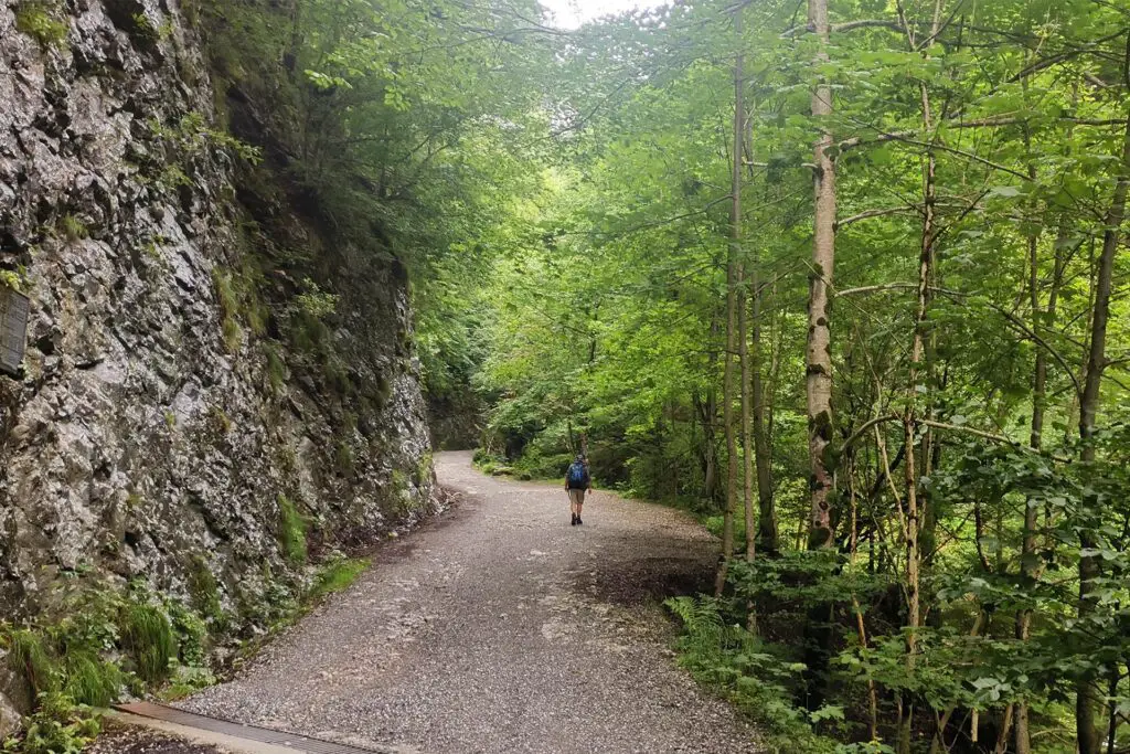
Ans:
<svg viewBox="0 0 1130 754"><path fill-rule="evenodd" d="M280 497L312 547L429 504L403 270L279 263L333 241L238 177L206 68L175 0L0 0L0 269L32 302L0 376L0 615L87 570L184 593L207 569L234 606L294 567Z"/></svg>

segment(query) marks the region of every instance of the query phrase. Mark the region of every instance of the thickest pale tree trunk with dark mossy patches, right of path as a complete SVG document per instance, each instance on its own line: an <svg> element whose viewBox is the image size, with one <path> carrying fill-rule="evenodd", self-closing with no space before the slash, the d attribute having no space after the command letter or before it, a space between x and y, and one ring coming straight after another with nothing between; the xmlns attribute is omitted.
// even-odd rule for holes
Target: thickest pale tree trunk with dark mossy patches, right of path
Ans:
<svg viewBox="0 0 1130 754"><path fill-rule="evenodd" d="M816 64L828 61L828 0L808 1L808 25L816 34L819 52ZM832 515L828 495L832 471L828 468L828 445L832 442L832 331L829 288L835 266L836 166L831 150L832 87L820 81L812 92L812 116L820 127L816 142L814 188L816 208L812 233L812 270L808 288L808 347L805 357L808 404L808 457L811 520L808 547L820 549L832 545Z"/></svg>

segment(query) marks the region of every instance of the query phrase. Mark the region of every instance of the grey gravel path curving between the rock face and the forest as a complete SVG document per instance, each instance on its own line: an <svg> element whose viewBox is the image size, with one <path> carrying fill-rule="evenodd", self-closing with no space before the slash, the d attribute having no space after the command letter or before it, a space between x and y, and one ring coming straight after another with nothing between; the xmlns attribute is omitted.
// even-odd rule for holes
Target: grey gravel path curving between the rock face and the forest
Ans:
<svg viewBox="0 0 1130 754"><path fill-rule="evenodd" d="M436 470L453 511L182 705L402 754L762 751L669 649L659 603L709 586L709 534L601 492L571 527L560 487L486 477L466 452Z"/></svg>

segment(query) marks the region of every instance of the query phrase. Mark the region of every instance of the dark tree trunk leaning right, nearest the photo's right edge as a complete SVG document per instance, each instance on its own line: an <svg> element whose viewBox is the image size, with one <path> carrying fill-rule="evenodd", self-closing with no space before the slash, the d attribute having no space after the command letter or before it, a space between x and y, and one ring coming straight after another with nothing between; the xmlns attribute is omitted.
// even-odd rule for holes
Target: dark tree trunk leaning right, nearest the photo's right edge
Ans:
<svg viewBox="0 0 1130 754"><path fill-rule="evenodd" d="M1127 40L1130 54L1130 37ZM1079 398L1079 437L1083 440L1081 460L1095 460L1094 436L1097 428L1099 388L1106 369L1106 324L1111 314L1111 281L1114 277L1114 257L1119 250L1119 236L1125 217L1127 192L1130 190L1130 116L1127 118L1122 137L1122 162L1119 165L1119 182L1114 198L1106 213L1106 229L1103 233L1103 252L1098 258L1098 274L1095 280L1095 305L1090 322L1090 350L1087 356L1087 374ZM1094 505L1093 500L1085 501ZM1079 545L1083 549L1095 546L1094 536L1080 529ZM1101 575L1098 558L1094 555L1079 557L1079 617L1086 618L1095 610L1095 580ZM1097 726L1099 694L1098 677L1085 674L1076 687L1076 736L1079 754L1099 754L1102 733Z"/></svg>

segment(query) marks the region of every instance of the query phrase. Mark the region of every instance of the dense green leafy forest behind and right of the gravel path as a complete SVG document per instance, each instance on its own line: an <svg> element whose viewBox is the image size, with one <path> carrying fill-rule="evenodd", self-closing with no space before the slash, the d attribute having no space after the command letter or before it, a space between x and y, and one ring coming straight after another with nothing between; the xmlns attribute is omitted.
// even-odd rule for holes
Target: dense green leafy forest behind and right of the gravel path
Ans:
<svg viewBox="0 0 1130 754"><path fill-rule="evenodd" d="M718 532L681 661L767 745L1130 752L1130 2L177 12L217 106L171 142L394 257L484 468Z"/></svg>

